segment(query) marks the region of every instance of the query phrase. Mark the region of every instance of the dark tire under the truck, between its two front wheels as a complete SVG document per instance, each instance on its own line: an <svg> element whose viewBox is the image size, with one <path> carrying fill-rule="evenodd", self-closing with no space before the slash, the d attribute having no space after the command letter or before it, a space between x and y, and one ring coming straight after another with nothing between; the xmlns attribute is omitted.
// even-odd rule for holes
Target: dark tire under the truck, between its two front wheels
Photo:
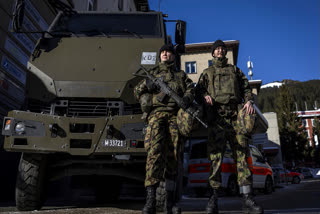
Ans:
<svg viewBox="0 0 320 214"><path fill-rule="evenodd" d="M122 180L118 177L94 176L95 200L98 204L115 203L119 200Z"/></svg>

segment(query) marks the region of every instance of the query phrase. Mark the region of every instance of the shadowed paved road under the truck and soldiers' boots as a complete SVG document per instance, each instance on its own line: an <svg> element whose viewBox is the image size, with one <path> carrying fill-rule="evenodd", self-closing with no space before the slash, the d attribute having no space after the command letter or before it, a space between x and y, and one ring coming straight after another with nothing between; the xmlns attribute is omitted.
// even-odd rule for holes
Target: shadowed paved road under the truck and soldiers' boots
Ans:
<svg viewBox="0 0 320 214"><path fill-rule="evenodd" d="M183 213L186 214L204 214L207 198L183 197L181 205ZM258 203L265 208L265 213L281 214L320 214L320 180L305 180L301 184L276 188L276 191L270 195L258 193L256 196ZM80 203L69 203L66 205L63 201L51 201L47 203L40 211L17 212L13 204L0 204L0 212L8 214L138 214L143 207L143 198L122 199L116 204L105 204L97 206L92 204L90 198L82 198ZM219 200L220 213L238 214L241 213L241 198L222 197Z"/></svg>

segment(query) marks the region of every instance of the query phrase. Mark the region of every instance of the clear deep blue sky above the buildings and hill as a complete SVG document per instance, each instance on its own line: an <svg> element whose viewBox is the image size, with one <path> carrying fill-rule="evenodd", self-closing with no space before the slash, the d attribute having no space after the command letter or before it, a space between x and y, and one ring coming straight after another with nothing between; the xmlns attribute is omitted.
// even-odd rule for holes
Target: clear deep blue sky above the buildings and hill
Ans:
<svg viewBox="0 0 320 214"><path fill-rule="evenodd" d="M160 0L168 19L187 22L187 43L239 40L238 67L263 84L320 79L319 0ZM159 0L149 0L158 10ZM174 34L174 25L167 25Z"/></svg>

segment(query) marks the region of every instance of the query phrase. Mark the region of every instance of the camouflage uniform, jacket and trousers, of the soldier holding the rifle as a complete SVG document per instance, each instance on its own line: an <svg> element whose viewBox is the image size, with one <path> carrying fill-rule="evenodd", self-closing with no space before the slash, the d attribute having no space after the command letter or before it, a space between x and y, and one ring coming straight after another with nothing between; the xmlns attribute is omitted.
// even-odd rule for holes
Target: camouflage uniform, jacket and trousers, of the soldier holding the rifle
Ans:
<svg viewBox="0 0 320 214"><path fill-rule="evenodd" d="M183 71L175 70L174 63L159 63L150 74L162 77L180 97L188 96L193 100L192 80ZM175 101L159 90L148 91L146 80L142 80L135 87L134 94L139 100L146 93L152 94L152 108L147 118L148 127L145 135L147 187L159 183L165 177L175 175L181 140L177 125L179 107Z"/></svg>

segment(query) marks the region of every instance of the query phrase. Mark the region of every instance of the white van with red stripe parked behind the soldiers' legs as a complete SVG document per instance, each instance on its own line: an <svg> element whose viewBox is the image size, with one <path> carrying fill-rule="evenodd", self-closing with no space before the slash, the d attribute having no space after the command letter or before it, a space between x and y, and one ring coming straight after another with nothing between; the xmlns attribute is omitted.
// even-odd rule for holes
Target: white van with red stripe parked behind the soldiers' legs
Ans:
<svg viewBox="0 0 320 214"><path fill-rule="evenodd" d="M207 141L193 140L190 146L187 187L194 188L197 194L202 195L209 188L210 162L207 157ZM264 160L260 151L253 145L250 145L250 157L247 161L253 173L253 188L263 190L266 194L271 193L274 190L272 169ZM229 195L239 193L236 172L236 163L232 158L230 147L227 146L221 166L221 178L222 187L226 188Z"/></svg>

